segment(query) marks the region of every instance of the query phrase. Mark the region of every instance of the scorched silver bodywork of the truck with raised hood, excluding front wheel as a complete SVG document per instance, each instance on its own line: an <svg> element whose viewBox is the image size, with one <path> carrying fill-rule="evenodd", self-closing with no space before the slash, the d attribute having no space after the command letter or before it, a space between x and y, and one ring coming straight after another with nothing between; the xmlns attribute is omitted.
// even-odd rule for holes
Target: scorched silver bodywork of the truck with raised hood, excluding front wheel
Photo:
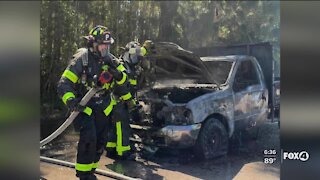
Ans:
<svg viewBox="0 0 320 180"><path fill-rule="evenodd" d="M139 135L144 142L188 147L195 144L201 125L212 116L223 123L229 137L238 122L250 127L266 119L268 90L255 58L221 56L204 58L206 60L202 62L199 57L179 48L167 49L168 53L164 53L165 50L158 51L162 55L157 54L158 61L154 67L165 71L156 69L154 82L138 92L143 106L141 117L146 118L140 125L150 127L143 133L140 130ZM234 83L241 62L253 64L250 66L253 69L248 69L248 72L257 72L258 82L237 90ZM204 68L204 64L210 63L219 67L216 70L211 68L210 72L210 66ZM211 78L205 77L209 75Z"/></svg>

